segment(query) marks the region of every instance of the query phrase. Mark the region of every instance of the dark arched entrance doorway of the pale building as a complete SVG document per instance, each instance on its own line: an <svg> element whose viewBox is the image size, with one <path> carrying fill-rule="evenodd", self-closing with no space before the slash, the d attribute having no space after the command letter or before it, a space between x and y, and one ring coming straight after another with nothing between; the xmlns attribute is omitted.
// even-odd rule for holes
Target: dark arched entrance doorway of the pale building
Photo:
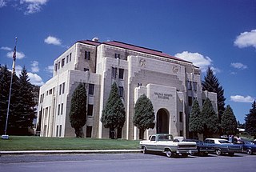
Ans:
<svg viewBox="0 0 256 172"><path fill-rule="evenodd" d="M170 115L168 110L160 109L157 113L157 134L169 133L169 119Z"/></svg>

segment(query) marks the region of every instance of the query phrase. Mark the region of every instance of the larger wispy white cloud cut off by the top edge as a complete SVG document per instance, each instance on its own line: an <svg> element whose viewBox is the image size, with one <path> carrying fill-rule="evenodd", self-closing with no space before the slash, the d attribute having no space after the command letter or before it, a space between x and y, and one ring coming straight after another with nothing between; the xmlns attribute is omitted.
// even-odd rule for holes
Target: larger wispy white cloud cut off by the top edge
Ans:
<svg viewBox="0 0 256 172"><path fill-rule="evenodd" d="M20 4L26 6L26 11L24 14L34 14L40 12L43 5L46 5L48 0L21 0Z"/></svg>

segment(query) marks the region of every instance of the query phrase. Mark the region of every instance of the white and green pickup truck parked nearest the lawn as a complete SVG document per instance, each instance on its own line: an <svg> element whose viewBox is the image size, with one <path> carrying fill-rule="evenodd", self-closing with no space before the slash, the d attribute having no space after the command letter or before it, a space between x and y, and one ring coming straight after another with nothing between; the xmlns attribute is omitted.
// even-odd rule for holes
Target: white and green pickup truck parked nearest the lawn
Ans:
<svg viewBox="0 0 256 172"><path fill-rule="evenodd" d="M166 153L169 158L178 154L187 157L188 154L198 152L196 142L178 142L177 139L174 140L171 134L151 135L149 140L142 140L140 146L144 154L147 150L159 151Z"/></svg>

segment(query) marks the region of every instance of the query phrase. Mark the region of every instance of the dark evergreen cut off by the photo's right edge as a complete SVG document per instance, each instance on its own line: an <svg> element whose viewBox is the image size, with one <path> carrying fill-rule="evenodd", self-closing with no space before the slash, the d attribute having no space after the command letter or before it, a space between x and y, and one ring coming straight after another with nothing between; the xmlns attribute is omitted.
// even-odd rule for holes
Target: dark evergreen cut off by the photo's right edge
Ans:
<svg viewBox="0 0 256 172"><path fill-rule="evenodd" d="M253 135L256 138L256 102L252 104L250 113L246 114L246 132L250 135Z"/></svg>

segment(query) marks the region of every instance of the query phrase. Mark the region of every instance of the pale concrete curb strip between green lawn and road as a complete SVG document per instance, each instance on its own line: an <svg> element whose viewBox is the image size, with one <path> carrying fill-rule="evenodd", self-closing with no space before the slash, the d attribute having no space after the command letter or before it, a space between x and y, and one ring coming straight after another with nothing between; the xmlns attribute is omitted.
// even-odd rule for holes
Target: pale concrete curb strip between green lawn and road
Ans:
<svg viewBox="0 0 256 172"><path fill-rule="evenodd" d="M0 156L7 154L121 154L140 152L142 150L15 150L0 151Z"/></svg>

